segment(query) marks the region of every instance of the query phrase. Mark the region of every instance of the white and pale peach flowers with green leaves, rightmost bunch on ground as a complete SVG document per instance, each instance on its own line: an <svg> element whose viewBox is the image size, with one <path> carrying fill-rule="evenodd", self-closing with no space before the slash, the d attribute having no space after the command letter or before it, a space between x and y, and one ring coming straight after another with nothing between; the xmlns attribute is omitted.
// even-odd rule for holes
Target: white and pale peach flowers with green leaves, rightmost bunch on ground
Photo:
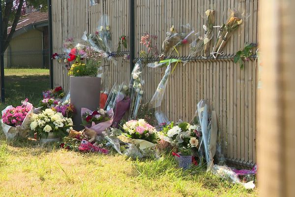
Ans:
<svg viewBox="0 0 295 197"><path fill-rule="evenodd" d="M192 155L197 152L199 136L197 126L185 122L176 126L171 123L160 132L160 138L176 147L181 155Z"/></svg>

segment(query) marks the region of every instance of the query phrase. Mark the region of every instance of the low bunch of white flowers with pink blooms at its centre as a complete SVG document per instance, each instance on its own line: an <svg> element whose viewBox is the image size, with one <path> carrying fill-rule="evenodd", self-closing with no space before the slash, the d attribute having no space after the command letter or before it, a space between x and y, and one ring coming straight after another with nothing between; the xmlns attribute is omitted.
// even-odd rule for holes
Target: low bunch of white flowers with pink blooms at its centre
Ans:
<svg viewBox="0 0 295 197"><path fill-rule="evenodd" d="M132 139L143 139L152 143L157 141L156 129L144 119L130 120L123 125L125 135Z"/></svg>

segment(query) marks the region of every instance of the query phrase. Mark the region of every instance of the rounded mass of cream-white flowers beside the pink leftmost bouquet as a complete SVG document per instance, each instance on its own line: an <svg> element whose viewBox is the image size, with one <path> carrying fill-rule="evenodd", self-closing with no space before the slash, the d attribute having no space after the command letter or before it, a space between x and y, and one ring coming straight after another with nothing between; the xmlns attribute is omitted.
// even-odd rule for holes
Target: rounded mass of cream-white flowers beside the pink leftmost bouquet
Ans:
<svg viewBox="0 0 295 197"><path fill-rule="evenodd" d="M32 114L30 121L30 134L34 136L34 133L37 133L38 138L47 138L49 132L64 137L73 129L71 118L65 118L61 113L52 109L45 109L39 114Z"/></svg>

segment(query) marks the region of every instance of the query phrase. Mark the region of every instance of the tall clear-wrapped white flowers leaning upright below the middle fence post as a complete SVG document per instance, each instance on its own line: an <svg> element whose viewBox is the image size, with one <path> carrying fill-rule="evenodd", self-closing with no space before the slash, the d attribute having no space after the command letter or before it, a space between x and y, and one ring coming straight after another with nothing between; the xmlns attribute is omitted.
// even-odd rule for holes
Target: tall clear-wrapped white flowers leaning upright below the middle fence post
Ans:
<svg viewBox="0 0 295 197"><path fill-rule="evenodd" d="M131 72L131 79L129 82L129 91L131 99L129 120L136 119L139 106L144 94L144 91L142 90L144 84L144 81L141 79L142 72L143 64L142 61L139 60L137 61Z"/></svg>

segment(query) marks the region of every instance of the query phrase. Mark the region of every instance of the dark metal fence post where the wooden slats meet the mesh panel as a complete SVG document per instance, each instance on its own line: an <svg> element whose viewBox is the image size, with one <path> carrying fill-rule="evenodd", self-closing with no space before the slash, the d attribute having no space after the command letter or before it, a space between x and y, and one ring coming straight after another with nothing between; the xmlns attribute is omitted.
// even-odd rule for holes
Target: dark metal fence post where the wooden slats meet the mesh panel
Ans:
<svg viewBox="0 0 295 197"><path fill-rule="evenodd" d="M52 43L52 3L51 0L47 0L48 3L48 39L49 39L49 58L50 58L50 87L53 88L53 61L51 55L53 54L53 43Z"/></svg>

